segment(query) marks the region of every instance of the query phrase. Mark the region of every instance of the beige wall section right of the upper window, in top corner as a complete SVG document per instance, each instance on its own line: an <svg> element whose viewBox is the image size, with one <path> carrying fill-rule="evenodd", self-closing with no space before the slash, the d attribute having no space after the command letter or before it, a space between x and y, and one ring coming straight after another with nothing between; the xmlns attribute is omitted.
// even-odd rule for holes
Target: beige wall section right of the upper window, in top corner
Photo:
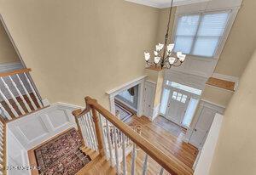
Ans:
<svg viewBox="0 0 256 175"><path fill-rule="evenodd" d="M243 0L215 72L240 77L256 46L256 1Z"/></svg>

